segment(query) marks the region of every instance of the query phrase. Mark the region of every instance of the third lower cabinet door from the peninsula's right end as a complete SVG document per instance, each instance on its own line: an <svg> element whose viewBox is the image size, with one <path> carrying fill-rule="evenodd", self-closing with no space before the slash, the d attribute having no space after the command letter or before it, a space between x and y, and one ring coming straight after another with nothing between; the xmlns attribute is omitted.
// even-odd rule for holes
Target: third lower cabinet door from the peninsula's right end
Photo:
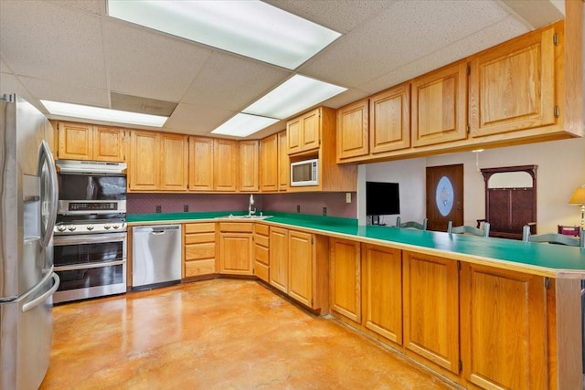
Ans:
<svg viewBox="0 0 585 390"><path fill-rule="evenodd" d="M402 256L399 249L362 245L364 324L402 344Z"/></svg>

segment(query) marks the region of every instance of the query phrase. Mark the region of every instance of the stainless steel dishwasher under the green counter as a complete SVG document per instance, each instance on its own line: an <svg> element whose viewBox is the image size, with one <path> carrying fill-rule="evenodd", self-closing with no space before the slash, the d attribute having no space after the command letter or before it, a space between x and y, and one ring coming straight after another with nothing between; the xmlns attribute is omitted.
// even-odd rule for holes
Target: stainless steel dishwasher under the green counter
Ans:
<svg viewBox="0 0 585 390"><path fill-rule="evenodd" d="M133 227L133 290L181 280L181 226Z"/></svg>

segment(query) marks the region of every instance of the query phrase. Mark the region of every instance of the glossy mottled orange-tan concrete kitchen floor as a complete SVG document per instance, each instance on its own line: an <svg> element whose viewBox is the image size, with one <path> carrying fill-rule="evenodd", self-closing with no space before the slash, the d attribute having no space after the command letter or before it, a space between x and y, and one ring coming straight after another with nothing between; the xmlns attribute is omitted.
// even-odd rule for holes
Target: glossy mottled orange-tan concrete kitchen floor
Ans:
<svg viewBox="0 0 585 390"><path fill-rule="evenodd" d="M41 389L452 389L259 282L213 279L54 308Z"/></svg>

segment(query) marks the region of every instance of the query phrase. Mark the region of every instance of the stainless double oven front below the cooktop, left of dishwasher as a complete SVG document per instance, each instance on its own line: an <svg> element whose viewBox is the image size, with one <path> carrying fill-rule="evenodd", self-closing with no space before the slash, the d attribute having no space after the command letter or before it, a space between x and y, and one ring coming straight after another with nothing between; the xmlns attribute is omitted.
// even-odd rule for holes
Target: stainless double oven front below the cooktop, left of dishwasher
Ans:
<svg viewBox="0 0 585 390"><path fill-rule="evenodd" d="M126 292L125 232L56 236L53 246L55 302Z"/></svg>

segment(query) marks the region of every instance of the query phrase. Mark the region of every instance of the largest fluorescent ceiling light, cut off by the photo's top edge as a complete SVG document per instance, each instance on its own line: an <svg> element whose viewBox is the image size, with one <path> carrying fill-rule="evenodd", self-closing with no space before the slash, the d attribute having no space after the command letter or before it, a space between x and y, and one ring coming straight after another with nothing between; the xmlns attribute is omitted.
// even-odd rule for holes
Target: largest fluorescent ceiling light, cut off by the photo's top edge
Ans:
<svg viewBox="0 0 585 390"><path fill-rule="evenodd" d="M258 0L108 0L110 16L296 69L341 34Z"/></svg>

